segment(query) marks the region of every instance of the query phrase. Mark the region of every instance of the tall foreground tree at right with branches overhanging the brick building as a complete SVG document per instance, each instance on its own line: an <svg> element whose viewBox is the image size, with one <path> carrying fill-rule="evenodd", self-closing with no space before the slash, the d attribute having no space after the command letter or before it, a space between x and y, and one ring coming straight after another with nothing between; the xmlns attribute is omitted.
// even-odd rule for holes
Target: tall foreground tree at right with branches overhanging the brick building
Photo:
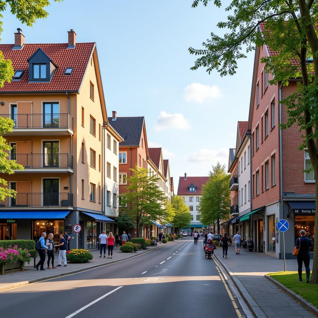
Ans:
<svg viewBox="0 0 318 318"><path fill-rule="evenodd" d="M195 0L204 6L210 0ZM220 8L221 0L213 0ZM318 176L318 5L314 0L232 0L225 8L226 21L218 28L225 30L223 36L211 33L203 42L203 49L189 48L191 54L200 55L191 68L205 67L208 73L217 70L221 76L236 73L237 60L246 58L255 45L267 45L276 52L271 58L262 58L274 79L270 84L287 86L290 79L298 79L298 90L282 105L287 107L286 129L298 125L303 142L299 149L308 149L312 169ZM262 32L259 25L265 24ZM291 63L291 61L298 63ZM316 183L316 198L318 183ZM316 211L318 201L316 200ZM315 233L318 231L318 213L315 215ZM318 283L318 244L314 246L312 283Z"/></svg>

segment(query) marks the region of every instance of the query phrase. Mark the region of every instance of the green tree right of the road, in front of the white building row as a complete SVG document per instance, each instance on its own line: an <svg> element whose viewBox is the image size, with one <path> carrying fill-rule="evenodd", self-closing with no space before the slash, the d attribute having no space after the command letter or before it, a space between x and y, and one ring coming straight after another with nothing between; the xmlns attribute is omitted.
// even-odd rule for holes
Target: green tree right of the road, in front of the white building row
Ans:
<svg viewBox="0 0 318 318"><path fill-rule="evenodd" d="M209 172L209 180L202 185L199 203L199 219L203 224L217 223L220 233L220 221L228 218L231 205L229 190L231 175L226 172L225 165L217 162Z"/></svg>

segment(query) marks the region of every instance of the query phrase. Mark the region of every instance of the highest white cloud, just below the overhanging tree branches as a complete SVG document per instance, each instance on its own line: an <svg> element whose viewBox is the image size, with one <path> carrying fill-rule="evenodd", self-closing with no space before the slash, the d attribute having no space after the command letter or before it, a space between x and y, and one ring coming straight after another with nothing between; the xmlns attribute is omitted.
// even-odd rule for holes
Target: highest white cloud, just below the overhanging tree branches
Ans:
<svg viewBox="0 0 318 318"><path fill-rule="evenodd" d="M186 101L194 101L199 104L222 96L221 90L217 85L209 86L200 83L192 83L184 89L184 98Z"/></svg>

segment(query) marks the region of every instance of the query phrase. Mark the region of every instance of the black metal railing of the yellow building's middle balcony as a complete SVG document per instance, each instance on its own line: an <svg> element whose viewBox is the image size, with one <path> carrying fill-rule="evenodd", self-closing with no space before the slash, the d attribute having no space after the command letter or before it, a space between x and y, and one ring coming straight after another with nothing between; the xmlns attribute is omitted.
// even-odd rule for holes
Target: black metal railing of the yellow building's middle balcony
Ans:
<svg viewBox="0 0 318 318"><path fill-rule="evenodd" d="M10 154L24 168L70 168L73 169L73 156L70 154Z"/></svg>

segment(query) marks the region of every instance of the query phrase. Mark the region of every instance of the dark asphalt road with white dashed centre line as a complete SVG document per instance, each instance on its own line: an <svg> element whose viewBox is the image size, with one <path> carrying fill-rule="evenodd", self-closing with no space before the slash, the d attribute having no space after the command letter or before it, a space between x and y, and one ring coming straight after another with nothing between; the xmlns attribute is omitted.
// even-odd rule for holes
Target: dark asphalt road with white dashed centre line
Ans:
<svg viewBox="0 0 318 318"><path fill-rule="evenodd" d="M72 266L69 264L69 266ZM106 295L106 296L105 296ZM0 293L0 317L241 317L201 240Z"/></svg>

